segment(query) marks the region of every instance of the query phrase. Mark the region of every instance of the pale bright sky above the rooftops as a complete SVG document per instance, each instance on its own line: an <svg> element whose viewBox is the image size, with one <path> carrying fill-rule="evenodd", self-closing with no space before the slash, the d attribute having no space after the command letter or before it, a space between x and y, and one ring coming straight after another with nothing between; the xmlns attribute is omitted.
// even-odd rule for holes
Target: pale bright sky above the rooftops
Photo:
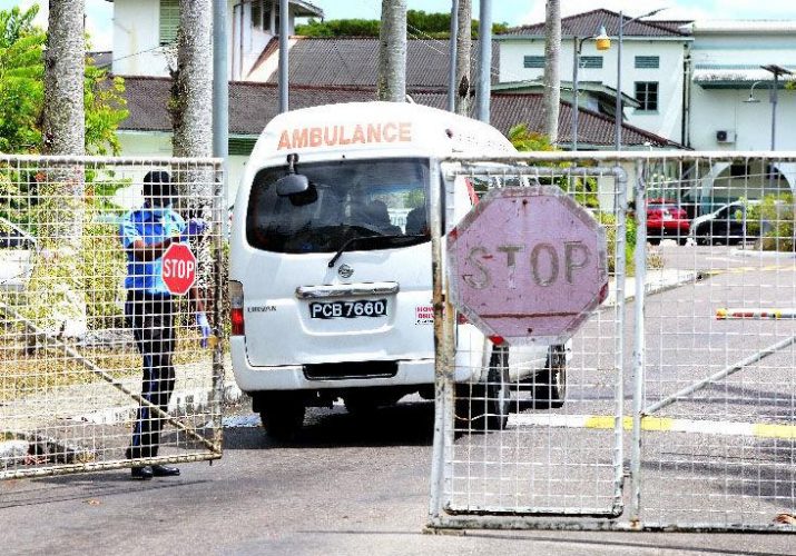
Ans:
<svg viewBox="0 0 796 556"><path fill-rule="evenodd" d="M324 10L326 19L379 19L382 0L308 0ZM31 3L42 6L40 22L47 23L47 0L0 0L0 9ZM94 50L110 50L112 2L85 0L86 24ZM406 0L409 9L426 12L449 11L451 0ZM492 0L492 20L521 26L544 21L544 0ZM773 19L796 20L796 0L561 0L561 16L606 8L635 17L658 8L666 8L652 19ZM473 0L473 16L478 19L479 0Z"/></svg>

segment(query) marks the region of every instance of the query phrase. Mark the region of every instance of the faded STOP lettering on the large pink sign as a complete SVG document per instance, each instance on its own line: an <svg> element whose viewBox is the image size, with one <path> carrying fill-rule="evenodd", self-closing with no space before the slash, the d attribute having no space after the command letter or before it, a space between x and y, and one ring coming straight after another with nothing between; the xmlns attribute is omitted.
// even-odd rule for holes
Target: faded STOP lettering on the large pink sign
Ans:
<svg viewBox="0 0 796 556"><path fill-rule="evenodd" d="M518 272L530 276L533 284L550 287L561 280L574 284L576 274L591 261L591 250L583 241L564 241L563 254L560 247L548 242L531 246L498 245L493 254L488 247L470 248L466 261L475 269L462 275L464 282L474 289L489 288L493 284L493 272L505 274L505 285L517 289Z"/></svg>

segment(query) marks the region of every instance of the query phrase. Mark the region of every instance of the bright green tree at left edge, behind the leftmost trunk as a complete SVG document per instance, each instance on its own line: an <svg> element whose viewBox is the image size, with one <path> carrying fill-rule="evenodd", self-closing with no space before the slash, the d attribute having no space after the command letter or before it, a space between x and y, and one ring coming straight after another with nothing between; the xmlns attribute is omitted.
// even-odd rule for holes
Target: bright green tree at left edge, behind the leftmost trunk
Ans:
<svg viewBox="0 0 796 556"><path fill-rule="evenodd" d="M0 151L41 152L43 48L47 33L33 24L38 6L0 10ZM86 60L86 152L118 153L116 130L127 118L121 78Z"/></svg>

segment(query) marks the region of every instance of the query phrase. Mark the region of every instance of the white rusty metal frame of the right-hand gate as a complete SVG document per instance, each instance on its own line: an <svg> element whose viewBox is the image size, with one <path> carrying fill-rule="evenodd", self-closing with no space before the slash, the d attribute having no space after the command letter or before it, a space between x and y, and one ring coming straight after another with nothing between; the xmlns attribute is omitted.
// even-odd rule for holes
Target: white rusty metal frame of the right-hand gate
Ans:
<svg viewBox="0 0 796 556"><path fill-rule="evenodd" d="M647 262L647 179L650 162L687 162L699 160L733 161L761 159L776 160L779 162L796 162L796 151L645 151L645 152L618 152L618 151L598 151L590 153L582 152L533 152L521 153L518 156L499 155L494 157L476 156L468 157L465 155L453 156L443 160L443 162L462 162L466 160L482 160L490 162L499 162L507 165L518 163L549 163L567 161L576 167L582 162L613 163L619 167L620 162L626 165L633 163L636 169L635 185L635 202L636 202L636 221L637 221L637 241L633 251L633 260L636 262L635 277L635 300L633 300L633 415L632 415L632 436L631 436L631 455L629 466L629 478L631 483L630 493L630 515L628 519L619 520L620 514L609 519L582 519L582 520L542 520L534 519L540 515L520 514L517 512L507 513L451 513L444 508L441 499L441 493L448 492L443 489L449 480L449 475L445 471L445 455L448 447L453 441L453 350L452 334L453 334L453 307L446 296L446 284L444 269L442 268L442 230L440 215L440 190L444 186L441 178L441 165L439 162L432 165L432 176L438 178L432 181L431 187L431 237L432 237L432 274L433 274L433 305L434 305L434 349L435 349L435 413L434 413L434 444L432 451L432 473L431 473L431 496L429 523L426 528L431 532L440 529L537 529L537 530L616 530L616 532L680 532L680 533L796 533L796 526L783 526L776 524L754 525L754 524L734 524L730 526L721 526L713 523L694 523L694 524L657 524L645 523L641 518L641 447L643 433L641 429L641 419L647 411L657 409L655 406L646 407L645 404L645 371L646 371L646 321L645 321L645 304L646 304L646 262ZM435 172L435 173L433 173ZM434 187L438 185L438 187ZM627 186L627 182L626 182ZM617 191L617 195L622 195L622 210L618 210L617 215L621 214L622 224L627 216L627 191ZM792 193L796 198L796 187L792 186ZM615 207L616 208L616 207ZM448 205L450 209L450 203ZM448 215L452 216L452 215ZM449 220L450 221L450 220ZM617 222L619 226L619 222ZM617 234L617 242L619 242L619 234ZM622 244L625 234L621 235ZM617 247L617 252L619 249ZM622 251L623 254L623 251ZM618 257L617 262L621 260L622 272L625 271L625 257ZM618 275L618 270L616 272ZM619 284L617 284L619 294ZM623 289L623 288L622 288ZM621 304L622 315L625 312L625 299L617 299ZM617 338L618 357L619 350L623 350L623 334L619 334ZM773 348L770 348L773 349ZM765 357L765 356L764 356ZM737 365L743 365L744 361ZM620 369L623 365L620 365ZM729 368L728 368L729 369ZM727 369L725 369L727 371ZM720 374L717 374L718 376ZM726 376L726 375L725 375ZM714 377L710 377L714 378ZM620 378L619 383L623 380ZM698 383L695 383L695 387ZM674 396L672 396L674 397ZM615 431L619 435L620 450L621 440L625 438L622 429L623 407L622 398L618 397L619 411L615 416ZM623 465L623 463L622 463ZM623 478L623 477L622 477ZM621 487L623 487L623 481ZM622 488L623 493L623 488ZM541 514L541 516L551 516L551 514ZM569 515L567 517L574 517ZM590 516L580 516L588 518Z"/></svg>

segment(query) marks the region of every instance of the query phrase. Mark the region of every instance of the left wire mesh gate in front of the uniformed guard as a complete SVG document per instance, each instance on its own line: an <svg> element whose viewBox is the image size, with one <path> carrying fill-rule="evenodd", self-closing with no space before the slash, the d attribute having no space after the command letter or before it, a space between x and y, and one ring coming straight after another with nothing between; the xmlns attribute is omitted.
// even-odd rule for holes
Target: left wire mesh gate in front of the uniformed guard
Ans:
<svg viewBox="0 0 796 556"><path fill-rule="evenodd" d="M150 171L168 172L176 187L179 216L161 232L181 230L195 259L180 246L185 257L164 257L164 279L181 288L194 277L195 288L174 298L174 342L158 344L173 376L143 381L147 359L125 316L125 305L139 301L125 289L121 228L141 209L153 249L146 230L160 221L157 201L143 209L141 187ZM0 158L0 479L220 457L223 188L215 159ZM208 226L187 236L179 222L190 219ZM154 396L169 387L165 406ZM131 460L138 413L163 426L160 450Z"/></svg>

